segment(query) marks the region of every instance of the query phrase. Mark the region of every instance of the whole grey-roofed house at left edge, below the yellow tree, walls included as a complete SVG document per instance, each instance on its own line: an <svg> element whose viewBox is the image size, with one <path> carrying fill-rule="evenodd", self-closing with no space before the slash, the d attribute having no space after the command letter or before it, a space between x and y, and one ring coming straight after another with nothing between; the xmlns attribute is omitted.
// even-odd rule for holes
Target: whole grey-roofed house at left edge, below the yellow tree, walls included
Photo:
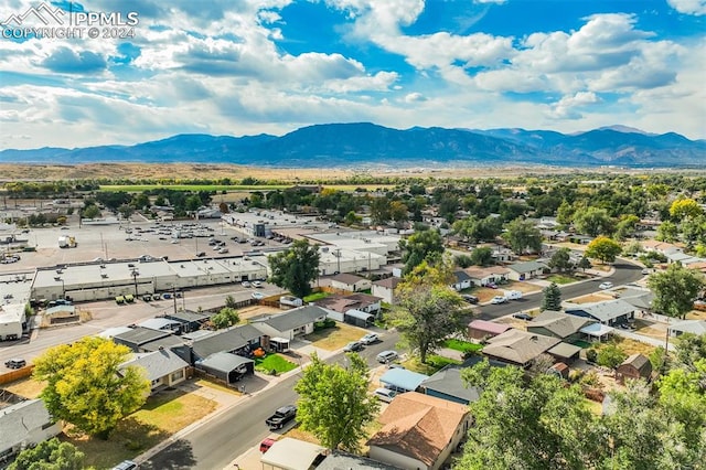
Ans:
<svg viewBox="0 0 706 470"><path fill-rule="evenodd" d="M26 447L58 436L61 423L55 423L41 399L24 399L3 393L3 402L11 397L11 405L0 408L0 462Z"/></svg>

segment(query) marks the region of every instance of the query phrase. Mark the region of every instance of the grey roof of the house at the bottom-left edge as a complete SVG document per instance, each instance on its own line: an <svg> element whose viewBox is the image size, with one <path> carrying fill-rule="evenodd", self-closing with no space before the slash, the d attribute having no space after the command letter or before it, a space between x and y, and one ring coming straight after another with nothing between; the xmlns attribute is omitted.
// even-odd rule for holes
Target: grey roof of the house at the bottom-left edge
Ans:
<svg viewBox="0 0 706 470"><path fill-rule="evenodd" d="M33 442L32 434L51 420L44 402L39 398L0 409L0 453L22 442Z"/></svg>

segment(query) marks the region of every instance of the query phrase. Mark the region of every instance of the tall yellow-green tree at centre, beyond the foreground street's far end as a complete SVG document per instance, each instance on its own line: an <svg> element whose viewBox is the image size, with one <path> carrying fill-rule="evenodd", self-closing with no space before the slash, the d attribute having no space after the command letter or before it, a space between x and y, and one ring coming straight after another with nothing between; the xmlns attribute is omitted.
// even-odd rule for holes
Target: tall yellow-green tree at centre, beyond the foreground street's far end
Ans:
<svg viewBox="0 0 706 470"><path fill-rule="evenodd" d="M463 330L463 299L449 287L447 265L419 265L397 286L397 305L389 322L397 328L422 363L446 338Z"/></svg>

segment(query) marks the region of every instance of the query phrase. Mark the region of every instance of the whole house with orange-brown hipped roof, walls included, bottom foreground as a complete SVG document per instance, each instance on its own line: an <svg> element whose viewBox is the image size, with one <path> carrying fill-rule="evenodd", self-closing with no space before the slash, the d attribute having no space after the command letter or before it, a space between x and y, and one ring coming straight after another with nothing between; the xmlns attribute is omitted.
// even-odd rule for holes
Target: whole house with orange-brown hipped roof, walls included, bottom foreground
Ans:
<svg viewBox="0 0 706 470"><path fill-rule="evenodd" d="M367 441L371 459L436 470L466 437L471 416L459 403L408 392L397 395L378 420L383 428Z"/></svg>

